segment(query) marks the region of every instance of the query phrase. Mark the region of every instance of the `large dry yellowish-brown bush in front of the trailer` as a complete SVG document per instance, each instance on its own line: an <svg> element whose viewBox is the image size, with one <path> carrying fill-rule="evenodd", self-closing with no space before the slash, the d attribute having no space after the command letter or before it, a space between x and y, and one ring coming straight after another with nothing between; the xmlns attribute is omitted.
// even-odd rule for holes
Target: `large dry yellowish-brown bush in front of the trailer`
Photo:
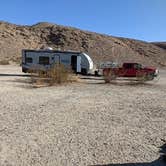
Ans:
<svg viewBox="0 0 166 166"><path fill-rule="evenodd" d="M54 64L48 71L32 69L29 72L31 73L31 82L35 87L53 86L55 84L78 81L76 74L63 64Z"/></svg>

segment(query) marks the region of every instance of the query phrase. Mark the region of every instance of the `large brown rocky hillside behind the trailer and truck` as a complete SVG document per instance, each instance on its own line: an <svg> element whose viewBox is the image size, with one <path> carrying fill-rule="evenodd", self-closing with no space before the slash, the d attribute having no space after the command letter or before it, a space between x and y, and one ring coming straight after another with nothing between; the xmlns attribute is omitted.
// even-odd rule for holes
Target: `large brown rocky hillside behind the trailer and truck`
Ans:
<svg viewBox="0 0 166 166"><path fill-rule="evenodd" d="M22 49L52 47L88 53L92 59L137 61L166 66L166 50L157 44L82 31L50 23L18 26L0 22L0 61L19 61Z"/></svg>

